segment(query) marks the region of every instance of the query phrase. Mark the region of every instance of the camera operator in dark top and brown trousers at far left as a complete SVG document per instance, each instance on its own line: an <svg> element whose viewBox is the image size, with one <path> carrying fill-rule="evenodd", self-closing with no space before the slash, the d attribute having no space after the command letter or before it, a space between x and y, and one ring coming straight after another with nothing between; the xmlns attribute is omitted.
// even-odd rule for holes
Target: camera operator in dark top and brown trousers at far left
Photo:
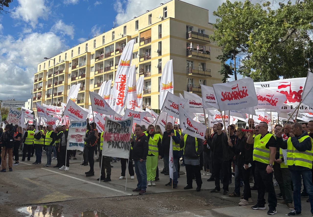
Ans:
<svg viewBox="0 0 313 217"><path fill-rule="evenodd" d="M0 143L2 146L2 170L0 172L6 172L7 167L7 153L9 155L9 171L13 171L13 144L14 144L14 132L15 127L11 124L7 124L5 132L0 137Z"/></svg>

